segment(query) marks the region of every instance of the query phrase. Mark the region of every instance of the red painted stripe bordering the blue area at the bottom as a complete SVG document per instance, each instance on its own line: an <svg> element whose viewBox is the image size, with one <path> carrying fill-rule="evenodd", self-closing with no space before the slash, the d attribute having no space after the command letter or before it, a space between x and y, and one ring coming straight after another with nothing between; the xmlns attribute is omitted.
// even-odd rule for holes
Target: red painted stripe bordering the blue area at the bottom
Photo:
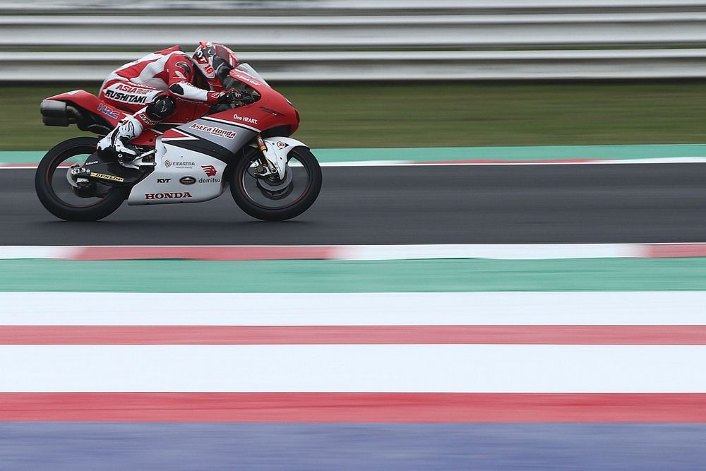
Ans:
<svg viewBox="0 0 706 471"><path fill-rule="evenodd" d="M706 422L706 394L0 393L0 422Z"/></svg>

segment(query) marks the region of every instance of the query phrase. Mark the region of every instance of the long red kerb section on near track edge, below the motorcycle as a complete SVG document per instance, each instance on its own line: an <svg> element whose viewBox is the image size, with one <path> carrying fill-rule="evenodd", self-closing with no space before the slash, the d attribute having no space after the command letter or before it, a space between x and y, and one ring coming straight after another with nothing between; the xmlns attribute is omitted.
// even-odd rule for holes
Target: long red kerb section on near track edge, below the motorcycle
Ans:
<svg viewBox="0 0 706 471"><path fill-rule="evenodd" d="M73 260L294 260L329 259L335 246L88 246L77 248Z"/></svg>

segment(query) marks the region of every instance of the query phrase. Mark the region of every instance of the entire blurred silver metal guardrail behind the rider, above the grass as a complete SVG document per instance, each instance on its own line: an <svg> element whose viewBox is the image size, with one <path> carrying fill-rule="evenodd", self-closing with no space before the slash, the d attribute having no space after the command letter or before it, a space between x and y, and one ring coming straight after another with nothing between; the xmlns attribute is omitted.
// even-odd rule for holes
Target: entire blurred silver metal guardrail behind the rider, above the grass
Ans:
<svg viewBox="0 0 706 471"><path fill-rule="evenodd" d="M239 55L273 81L706 77L706 49L670 49L706 44L706 0L440 0L434 15L405 14L403 3L430 5L358 0L337 14L345 2L301 0L292 12L307 14L294 16L252 6L239 16L0 16L0 81L99 81L140 54L204 39L256 50ZM316 4L328 14L309 14ZM388 14L349 14L354 7ZM440 14L459 9L474 13ZM133 52L102 52L120 48Z"/></svg>

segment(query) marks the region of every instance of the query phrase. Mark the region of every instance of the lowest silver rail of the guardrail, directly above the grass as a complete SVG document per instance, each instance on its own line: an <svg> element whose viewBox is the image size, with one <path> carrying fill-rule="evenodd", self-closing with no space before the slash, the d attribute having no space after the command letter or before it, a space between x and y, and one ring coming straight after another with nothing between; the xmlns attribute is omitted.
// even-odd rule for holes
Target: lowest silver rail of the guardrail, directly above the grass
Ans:
<svg viewBox="0 0 706 471"><path fill-rule="evenodd" d="M0 52L5 81L102 81L138 53ZM240 54L269 81L706 77L706 49ZM80 64L80 65L76 65Z"/></svg>

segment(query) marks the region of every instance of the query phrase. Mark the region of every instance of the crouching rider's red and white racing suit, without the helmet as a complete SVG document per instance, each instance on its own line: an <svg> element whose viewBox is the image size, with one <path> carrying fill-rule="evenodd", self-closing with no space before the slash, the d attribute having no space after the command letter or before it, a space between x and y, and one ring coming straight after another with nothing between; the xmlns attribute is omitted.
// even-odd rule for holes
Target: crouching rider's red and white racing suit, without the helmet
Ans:
<svg viewBox="0 0 706 471"><path fill-rule="evenodd" d="M179 46L153 52L113 71L100 88L100 99L116 108L134 112L98 143L99 149L114 148L135 155L126 143L169 117L170 122L195 119L203 107L214 105L224 95L196 84L208 84L196 71L191 56Z"/></svg>

